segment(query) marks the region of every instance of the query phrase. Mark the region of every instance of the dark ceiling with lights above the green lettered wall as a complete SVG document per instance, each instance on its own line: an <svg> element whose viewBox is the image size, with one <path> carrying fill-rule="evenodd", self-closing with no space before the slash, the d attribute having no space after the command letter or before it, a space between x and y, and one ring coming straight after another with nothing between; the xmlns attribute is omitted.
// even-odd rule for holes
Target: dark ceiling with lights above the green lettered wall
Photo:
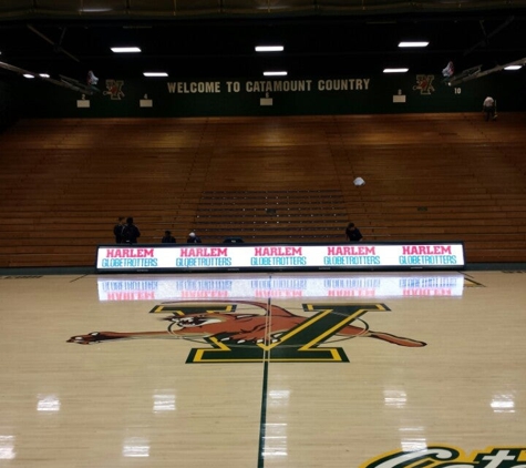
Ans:
<svg viewBox="0 0 526 468"><path fill-rule="evenodd" d="M404 50L401 40L426 40ZM282 44L258 54L257 44ZM110 48L137 45L117 55ZM260 78L492 68L526 57L526 1L2 0L0 61L84 79ZM12 72L0 70L0 79Z"/></svg>

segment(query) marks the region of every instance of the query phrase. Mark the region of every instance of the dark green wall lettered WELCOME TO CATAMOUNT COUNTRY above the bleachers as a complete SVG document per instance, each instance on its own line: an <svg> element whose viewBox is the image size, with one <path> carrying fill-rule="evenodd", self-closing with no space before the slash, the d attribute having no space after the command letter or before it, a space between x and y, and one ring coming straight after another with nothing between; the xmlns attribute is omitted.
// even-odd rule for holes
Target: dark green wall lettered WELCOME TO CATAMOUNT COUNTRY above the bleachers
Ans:
<svg viewBox="0 0 526 468"><path fill-rule="evenodd" d="M440 74L185 80L100 78L93 96L48 82L17 80L17 105L30 118L171 118L481 111L486 95L499 111L525 111L525 71L498 72L458 87ZM344 88L344 89L343 89ZM141 100L152 108L141 108ZM262 105L261 99L272 105ZM404 102L393 102L401 100ZM79 108L78 101L89 108ZM267 101L269 103L270 101Z"/></svg>

